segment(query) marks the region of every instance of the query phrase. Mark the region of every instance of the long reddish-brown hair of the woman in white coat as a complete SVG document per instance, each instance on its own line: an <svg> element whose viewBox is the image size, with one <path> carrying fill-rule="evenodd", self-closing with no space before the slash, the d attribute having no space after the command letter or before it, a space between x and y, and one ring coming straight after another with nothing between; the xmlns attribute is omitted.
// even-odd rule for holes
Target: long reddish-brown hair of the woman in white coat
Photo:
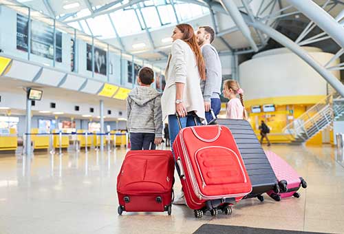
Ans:
<svg viewBox="0 0 344 234"><path fill-rule="evenodd" d="M206 79L206 67L204 65L203 56L200 50L200 46L197 43L195 32L191 25L187 23L181 23L176 26L183 34L182 40L188 43L196 56L196 63L198 67L198 73L202 80Z"/></svg>

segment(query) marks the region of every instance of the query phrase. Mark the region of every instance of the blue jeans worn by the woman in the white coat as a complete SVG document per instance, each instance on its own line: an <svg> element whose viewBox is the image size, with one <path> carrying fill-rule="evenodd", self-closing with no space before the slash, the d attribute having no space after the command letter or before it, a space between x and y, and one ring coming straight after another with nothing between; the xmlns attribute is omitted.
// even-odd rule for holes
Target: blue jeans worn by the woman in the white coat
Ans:
<svg viewBox="0 0 344 234"><path fill-rule="evenodd" d="M196 117L196 121L197 121L197 125L202 125L202 123L200 122L200 118ZM188 115L184 118L180 118L180 123L182 125L182 128L195 126L195 120L193 116L191 115ZM170 133L171 146L173 146L173 142L175 138L177 137L179 131L180 129L178 125L177 116L175 116L174 114L169 115L169 133ZM174 155L173 148L172 148L172 153ZM176 169L178 171L178 175L180 175L179 167L176 167Z"/></svg>

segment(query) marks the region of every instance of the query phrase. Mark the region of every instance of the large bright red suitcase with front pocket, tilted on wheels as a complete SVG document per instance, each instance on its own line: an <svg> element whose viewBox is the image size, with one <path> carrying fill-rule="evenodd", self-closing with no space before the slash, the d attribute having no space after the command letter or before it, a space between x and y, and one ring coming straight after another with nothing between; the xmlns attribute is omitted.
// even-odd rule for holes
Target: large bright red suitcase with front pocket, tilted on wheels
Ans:
<svg viewBox="0 0 344 234"><path fill-rule="evenodd" d="M173 142L186 204L195 217L206 211L232 213L230 205L252 190L235 140L227 127L186 127Z"/></svg>

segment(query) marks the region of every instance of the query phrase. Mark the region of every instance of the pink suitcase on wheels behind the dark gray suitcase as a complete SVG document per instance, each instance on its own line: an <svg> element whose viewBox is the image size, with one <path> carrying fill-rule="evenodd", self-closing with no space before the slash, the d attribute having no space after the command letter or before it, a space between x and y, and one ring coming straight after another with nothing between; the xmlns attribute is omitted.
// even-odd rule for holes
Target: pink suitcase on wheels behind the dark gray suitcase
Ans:
<svg viewBox="0 0 344 234"><path fill-rule="evenodd" d="M268 195L275 201L279 202L281 198L288 198L294 196L294 198L299 198L300 193L297 191L302 186L303 189L307 187L307 183L302 177L295 171L290 164L279 157L276 153L272 151L265 151L266 156L271 164L272 170L275 172L277 180L279 180L280 193L274 193L274 191L269 191Z"/></svg>

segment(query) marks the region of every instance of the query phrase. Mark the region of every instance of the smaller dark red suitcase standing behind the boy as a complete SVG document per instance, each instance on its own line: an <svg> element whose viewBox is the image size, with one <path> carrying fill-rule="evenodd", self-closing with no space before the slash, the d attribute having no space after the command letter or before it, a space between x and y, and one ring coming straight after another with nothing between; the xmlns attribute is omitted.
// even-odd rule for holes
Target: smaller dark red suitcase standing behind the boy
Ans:
<svg viewBox="0 0 344 234"><path fill-rule="evenodd" d="M167 211L171 215L174 167L169 150L129 151L117 177L118 214Z"/></svg>

